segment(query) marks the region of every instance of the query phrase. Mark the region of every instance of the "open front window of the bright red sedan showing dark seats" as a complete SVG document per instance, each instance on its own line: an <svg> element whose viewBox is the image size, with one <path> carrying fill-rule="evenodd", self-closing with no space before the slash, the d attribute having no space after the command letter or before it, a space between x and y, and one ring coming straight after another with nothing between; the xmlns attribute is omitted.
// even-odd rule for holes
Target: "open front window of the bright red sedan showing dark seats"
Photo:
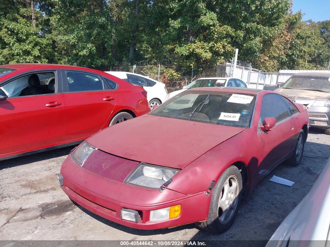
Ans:
<svg viewBox="0 0 330 247"><path fill-rule="evenodd" d="M8 98L55 93L55 73L35 73L19 77L0 89Z"/></svg>

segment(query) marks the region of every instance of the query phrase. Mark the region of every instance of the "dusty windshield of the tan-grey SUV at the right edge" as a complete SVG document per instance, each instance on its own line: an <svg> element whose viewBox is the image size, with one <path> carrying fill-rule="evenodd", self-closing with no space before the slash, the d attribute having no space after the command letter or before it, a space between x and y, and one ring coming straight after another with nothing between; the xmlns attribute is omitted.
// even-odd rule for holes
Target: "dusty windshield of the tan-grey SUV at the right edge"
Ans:
<svg viewBox="0 0 330 247"><path fill-rule="evenodd" d="M283 85L283 88L316 90L330 93L329 76L292 76Z"/></svg>

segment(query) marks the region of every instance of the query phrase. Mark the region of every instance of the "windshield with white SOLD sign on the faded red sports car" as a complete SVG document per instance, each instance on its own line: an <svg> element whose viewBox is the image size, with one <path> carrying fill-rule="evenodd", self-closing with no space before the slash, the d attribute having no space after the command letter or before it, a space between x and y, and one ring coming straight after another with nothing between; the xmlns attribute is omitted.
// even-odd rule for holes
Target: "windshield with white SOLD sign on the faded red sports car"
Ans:
<svg viewBox="0 0 330 247"><path fill-rule="evenodd" d="M249 127L254 102L254 94L188 90L149 114L209 124Z"/></svg>

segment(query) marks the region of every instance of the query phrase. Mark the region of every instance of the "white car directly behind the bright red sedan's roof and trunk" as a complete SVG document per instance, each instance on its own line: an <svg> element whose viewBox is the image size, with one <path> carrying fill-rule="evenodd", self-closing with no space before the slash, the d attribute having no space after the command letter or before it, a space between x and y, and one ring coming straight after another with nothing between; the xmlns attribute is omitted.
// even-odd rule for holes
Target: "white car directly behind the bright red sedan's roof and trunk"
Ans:
<svg viewBox="0 0 330 247"><path fill-rule="evenodd" d="M123 79L131 84L142 86L148 92L148 102L152 110L153 106L159 106L164 102L167 95L167 88L164 83L150 77L130 72L106 71L106 73Z"/></svg>

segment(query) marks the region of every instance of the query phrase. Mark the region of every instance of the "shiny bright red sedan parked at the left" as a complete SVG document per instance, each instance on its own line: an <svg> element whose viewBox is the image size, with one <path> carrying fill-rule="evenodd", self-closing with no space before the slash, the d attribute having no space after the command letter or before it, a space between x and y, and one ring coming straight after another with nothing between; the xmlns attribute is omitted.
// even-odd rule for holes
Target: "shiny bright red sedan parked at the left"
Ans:
<svg viewBox="0 0 330 247"><path fill-rule="evenodd" d="M0 160L78 144L150 111L142 87L87 68L0 66Z"/></svg>

